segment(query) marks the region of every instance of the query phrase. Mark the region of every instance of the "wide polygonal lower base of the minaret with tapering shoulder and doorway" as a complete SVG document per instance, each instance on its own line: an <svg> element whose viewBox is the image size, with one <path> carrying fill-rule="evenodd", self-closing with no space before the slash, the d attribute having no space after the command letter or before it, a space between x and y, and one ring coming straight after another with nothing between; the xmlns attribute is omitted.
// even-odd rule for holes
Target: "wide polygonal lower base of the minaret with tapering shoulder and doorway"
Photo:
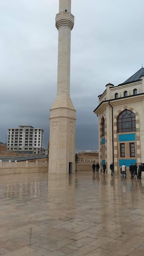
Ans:
<svg viewBox="0 0 144 256"><path fill-rule="evenodd" d="M50 109L49 173L69 174L75 172L76 111L69 95L55 108L61 97L57 95Z"/></svg>

